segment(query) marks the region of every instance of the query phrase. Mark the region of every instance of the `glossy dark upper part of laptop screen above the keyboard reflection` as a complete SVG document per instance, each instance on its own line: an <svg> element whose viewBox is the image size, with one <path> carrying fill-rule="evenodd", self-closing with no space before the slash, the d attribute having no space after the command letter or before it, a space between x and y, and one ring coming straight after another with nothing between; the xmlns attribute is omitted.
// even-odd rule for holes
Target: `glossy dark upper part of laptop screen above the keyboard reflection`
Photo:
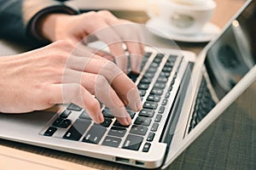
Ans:
<svg viewBox="0 0 256 170"><path fill-rule="evenodd" d="M219 100L255 65L255 7L251 2L207 52L205 65Z"/></svg>

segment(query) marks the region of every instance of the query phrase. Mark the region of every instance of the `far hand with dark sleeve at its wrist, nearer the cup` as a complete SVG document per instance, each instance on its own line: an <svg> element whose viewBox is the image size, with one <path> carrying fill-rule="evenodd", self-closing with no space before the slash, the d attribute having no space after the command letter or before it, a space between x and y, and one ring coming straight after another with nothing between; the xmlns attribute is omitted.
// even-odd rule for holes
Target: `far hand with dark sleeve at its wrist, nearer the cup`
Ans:
<svg viewBox="0 0 256 170"><path fill-rule="evenodd" d="M41 34L51 42L67 40L77 44L94 34L108 44L115 63L127 71L128 58L124 44L130 54L131 71L139 72L143 59L141 32L136 24L119 20L108 11L89 12L79 15L49 14L41 20Z"/></svg>

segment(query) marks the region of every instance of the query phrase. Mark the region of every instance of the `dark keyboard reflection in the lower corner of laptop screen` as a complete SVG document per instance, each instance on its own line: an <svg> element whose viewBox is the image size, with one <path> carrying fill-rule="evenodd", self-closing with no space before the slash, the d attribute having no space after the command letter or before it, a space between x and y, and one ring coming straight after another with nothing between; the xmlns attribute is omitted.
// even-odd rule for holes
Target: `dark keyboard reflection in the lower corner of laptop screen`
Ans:
<svg viewBox="0 0 256 170"><path fill-rule="evenodd" d="M212 94L207 87L206 78L203 76L201 79L201 85L198 94L195 99L194 111L189 123L189 132L207 116L207 113L215 106L215 102L212 99Z"/></svg>

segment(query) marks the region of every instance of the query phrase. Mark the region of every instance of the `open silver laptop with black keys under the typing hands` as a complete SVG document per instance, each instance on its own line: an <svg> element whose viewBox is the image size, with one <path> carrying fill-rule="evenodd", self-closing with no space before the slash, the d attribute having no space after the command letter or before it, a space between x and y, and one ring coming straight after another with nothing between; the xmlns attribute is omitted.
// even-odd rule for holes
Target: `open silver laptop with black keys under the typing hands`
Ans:
<svg viewBox="0 0 256 170"><path fill-rule="evenodd" d="M91 121L78 105L0 114L0 138L143 168L165 168L256 79L256 2L247 1L201 54L146 48L136 82L143 110L130 126L102 105Z"/></svg>

